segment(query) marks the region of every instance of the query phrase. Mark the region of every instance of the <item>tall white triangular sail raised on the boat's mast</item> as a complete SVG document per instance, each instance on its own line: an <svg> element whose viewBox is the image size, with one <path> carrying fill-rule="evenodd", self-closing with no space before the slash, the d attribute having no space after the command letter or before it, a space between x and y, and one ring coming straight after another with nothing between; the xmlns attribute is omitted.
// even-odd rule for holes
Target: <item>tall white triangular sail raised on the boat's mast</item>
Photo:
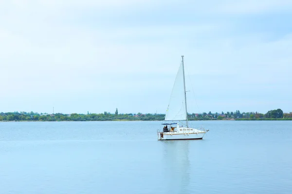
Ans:
<svg viewBox="0 0 292 194"><path fill-rule="evenodd" d="M184 99L184 84L183 84L183 63L181 63L177 73L169 104L165 113L165 121L186 120L186 107Z"/></svg>

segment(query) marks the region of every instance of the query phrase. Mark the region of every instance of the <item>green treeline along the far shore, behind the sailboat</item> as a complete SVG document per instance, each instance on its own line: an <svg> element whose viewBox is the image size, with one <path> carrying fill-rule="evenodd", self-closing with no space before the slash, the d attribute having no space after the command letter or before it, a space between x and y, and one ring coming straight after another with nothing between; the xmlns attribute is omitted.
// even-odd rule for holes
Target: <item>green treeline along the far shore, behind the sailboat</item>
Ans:
<svg viewBox="0 0 292 194"><path fill-rule="evenodd" d="M151 113L87 113L87 114L63 114L63 113L34 113L34 112L14 112L0 113L0 121L117 121L117 120L142 120L142 121L162 121L165 114ZM283 113L281 109L271 110L267 113L188 113L189 120L292 120L292 112Z"/></svg>

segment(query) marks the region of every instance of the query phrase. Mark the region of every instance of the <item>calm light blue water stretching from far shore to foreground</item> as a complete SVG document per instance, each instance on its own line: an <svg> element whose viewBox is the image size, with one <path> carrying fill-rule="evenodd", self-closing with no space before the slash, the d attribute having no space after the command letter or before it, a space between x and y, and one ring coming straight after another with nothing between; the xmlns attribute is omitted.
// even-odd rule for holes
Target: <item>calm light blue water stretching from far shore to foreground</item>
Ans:
<svg viewBox="0 0 292 194"><path fill-rule="evenodd" d="M0 193L292 193L291 121L197 124L163 142L156 121L0 122Z"/></svg>

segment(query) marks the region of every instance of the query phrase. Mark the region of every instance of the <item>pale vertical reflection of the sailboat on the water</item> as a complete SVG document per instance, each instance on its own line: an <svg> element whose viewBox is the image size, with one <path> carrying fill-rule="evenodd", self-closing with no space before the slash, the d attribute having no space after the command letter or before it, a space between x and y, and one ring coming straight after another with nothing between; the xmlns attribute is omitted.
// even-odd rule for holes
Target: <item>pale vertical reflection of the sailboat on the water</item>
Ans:
<svg viewBox="0 0 292 194"><path fill-rule="evenodd" d="M164 184L167 193L191 193L189 142L162 141L164 146Z"/></svg>

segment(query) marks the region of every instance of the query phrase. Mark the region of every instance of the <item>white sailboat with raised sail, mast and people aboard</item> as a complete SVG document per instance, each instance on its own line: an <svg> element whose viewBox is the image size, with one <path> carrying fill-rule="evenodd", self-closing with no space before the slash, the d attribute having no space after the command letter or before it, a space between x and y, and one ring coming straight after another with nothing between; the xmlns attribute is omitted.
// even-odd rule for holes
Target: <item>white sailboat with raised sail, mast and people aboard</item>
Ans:
<svg viewBox="0 0 292 194"><path fill-rule="evenodd" d="M185 121L185 126L180 126L179 122L183 121ZM164 126L163 131L157 129L158 140L203 139L203 136L209 131L188 126L183 56L162 125Z"/></svg>

